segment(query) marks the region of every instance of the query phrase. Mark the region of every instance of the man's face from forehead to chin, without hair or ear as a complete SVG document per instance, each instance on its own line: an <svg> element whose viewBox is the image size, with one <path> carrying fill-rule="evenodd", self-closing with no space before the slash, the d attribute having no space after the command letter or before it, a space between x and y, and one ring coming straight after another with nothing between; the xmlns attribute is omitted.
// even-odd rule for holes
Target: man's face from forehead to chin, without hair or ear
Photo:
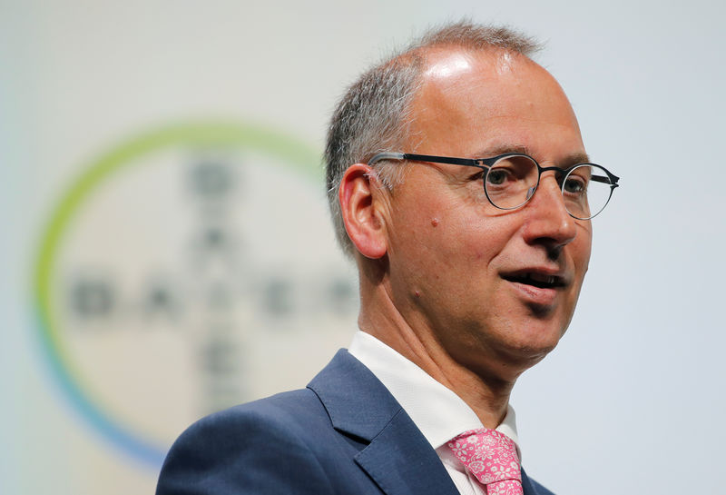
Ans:
<svg viewBox="0 0 726 495"><path fill-rule="evenodd" d="M504 51L429 52L413 118L405 153L519 152L562 167L585 156L560 86ZM502 211L486 200L475 167L407 166L387 213L388 290L397 310L429 350L471 371L499 374L541 360L572 318L591 223L569 216L552 172L524 207Z"/></svg>

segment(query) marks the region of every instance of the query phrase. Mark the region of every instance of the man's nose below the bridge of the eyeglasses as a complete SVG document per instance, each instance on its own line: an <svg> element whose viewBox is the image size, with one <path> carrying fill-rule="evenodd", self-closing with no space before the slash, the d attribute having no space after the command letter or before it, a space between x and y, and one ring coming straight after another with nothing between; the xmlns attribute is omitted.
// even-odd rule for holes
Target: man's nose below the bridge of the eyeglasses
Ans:
<svg viewBox="0 0 726 495"><path fill-rule="evenodd" d="M551 259L556 259L565 245L577 234L576 221L564 207L564 199L554 173L545 173L532 196L525 204L525 242L542 245Z"/></svg>

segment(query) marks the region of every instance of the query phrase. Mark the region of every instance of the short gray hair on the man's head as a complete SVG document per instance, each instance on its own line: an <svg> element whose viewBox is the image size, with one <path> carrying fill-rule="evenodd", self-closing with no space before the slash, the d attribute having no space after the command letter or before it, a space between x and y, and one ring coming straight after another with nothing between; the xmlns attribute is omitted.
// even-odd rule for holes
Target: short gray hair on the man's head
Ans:
<svg viewBox="0 0 726 495"><path fill-rule="evenodd" d="M425 51L433 46L458 46L469 50L503 48L531 57L539 45L508 27L476 25L468 21L438 26L404 50L362 74L338 102L330 119L325 148L328 201L338 243L352 256L353 243L346 233L338 203L343 174L353 163L367 163L376 153L401 151L412 122L411 102L422 84ZM380 162L374 166L381 183L391 190L403 180L403 167Z"/></svg>

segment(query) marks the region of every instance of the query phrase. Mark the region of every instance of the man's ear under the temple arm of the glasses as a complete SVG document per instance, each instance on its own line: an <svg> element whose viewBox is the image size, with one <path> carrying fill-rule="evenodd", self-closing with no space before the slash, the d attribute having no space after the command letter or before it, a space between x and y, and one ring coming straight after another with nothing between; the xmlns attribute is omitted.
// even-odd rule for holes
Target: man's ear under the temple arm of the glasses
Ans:
<svg viewBox="0 0 726 495"><path fill-rule="evenodd" d="M386 228L380 214L381 185L364 163L350 165L338 190L338 201L348 237L358 252L371 259L388 251Z"/></svg>

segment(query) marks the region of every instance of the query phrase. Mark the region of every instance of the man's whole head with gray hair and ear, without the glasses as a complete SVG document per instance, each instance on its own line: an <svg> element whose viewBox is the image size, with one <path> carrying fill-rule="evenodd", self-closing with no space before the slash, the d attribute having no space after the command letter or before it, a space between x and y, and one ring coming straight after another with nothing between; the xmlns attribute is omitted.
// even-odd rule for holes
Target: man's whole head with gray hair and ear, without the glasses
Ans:
<svg viewBox="0 0 726 495"><path fill-rule="evenodd" d="M527 56L533 46L472 25L429 35L364 74L329 134L333 212L356 252L361 312L391 313L392 332L406 327L432 361L480 376L516 375L554 348L587 271L591 223L567 212L554 171L524 206L500 210L476 167L367 162L379 152L586 161L562 89Z"/></svg>

